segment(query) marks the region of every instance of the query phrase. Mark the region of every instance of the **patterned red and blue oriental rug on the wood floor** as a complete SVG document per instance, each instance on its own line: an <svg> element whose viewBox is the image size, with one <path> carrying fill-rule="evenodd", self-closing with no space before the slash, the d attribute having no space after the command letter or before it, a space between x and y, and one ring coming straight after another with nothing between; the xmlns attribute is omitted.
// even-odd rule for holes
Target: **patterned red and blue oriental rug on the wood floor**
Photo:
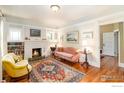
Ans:
<svg viewBox="0 0 124 93"><path fill-rule="evenodd" d="M55 59L33 61L31 82L79 82L85 74Z"/></svg>

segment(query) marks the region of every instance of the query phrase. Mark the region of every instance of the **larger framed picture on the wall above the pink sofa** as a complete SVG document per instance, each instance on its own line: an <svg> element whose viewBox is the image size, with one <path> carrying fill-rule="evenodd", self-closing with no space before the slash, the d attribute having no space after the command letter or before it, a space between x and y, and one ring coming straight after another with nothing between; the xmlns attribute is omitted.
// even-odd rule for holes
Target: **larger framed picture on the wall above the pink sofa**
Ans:
<svg viewBox="0 0 124 93"><path fill-rule="evenodd" d="M66 41L70 43L79 43L79 32L78 31L67 32Z"/></svg>

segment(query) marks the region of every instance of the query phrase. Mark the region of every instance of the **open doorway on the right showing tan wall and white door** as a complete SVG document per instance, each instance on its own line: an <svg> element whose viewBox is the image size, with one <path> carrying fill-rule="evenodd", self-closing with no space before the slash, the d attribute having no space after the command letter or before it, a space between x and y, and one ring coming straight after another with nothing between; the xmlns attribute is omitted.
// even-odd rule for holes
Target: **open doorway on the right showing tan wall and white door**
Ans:
<svg viewBox="0 0 124 93"><path fill-rule="evenodd" d="M118 67L119 64L119 23L100 26L101 66ZM104 61L104 62L103 62Z"/></svg>

